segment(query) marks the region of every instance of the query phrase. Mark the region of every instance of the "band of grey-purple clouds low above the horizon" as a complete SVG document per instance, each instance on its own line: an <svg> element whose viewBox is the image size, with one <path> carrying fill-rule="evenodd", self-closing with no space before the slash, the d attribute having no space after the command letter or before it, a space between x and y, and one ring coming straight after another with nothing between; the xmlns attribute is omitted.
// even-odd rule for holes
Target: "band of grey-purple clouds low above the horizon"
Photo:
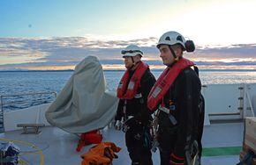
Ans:
<svg viewBox="0 0 256 165"><path fill-rule="evenodd" d="M0 69L74 67L88 55L102 64L123 64L121 49L138 44L150 65L162 65L156 38L132 40L92 39L90 37L0 38ZM197 46L185 57L200 65L256 65L256 44Z"/></svg>

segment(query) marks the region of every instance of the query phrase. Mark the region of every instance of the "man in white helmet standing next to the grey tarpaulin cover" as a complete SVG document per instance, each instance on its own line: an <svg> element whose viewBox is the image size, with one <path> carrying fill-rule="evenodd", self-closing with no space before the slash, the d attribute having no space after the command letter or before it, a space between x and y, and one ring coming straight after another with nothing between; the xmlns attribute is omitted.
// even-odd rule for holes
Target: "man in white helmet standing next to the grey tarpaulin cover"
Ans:
<svg viewBox="0 0 256 165"><path fill-rule="evenodd" d="M147 96L155 78L146 63L141 61L140 47L130 45L121 52L126 71L119 82L117 97L120 98L116 129L123 127L125 144L132 164L152 165L151 159L151 112L147 109Z"/></svg>

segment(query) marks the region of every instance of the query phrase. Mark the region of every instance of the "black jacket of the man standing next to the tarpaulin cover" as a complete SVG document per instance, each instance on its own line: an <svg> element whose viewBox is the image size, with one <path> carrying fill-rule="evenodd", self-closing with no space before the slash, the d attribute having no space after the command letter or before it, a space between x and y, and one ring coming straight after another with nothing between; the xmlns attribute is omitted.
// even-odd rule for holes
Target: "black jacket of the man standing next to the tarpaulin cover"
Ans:
<svg viewBox="0 0 256 165"><path fill-rule="evenodd" d="M134 71L130 72L129 82L133 73ZM137 94L141 93L142 97L126 100L126 116L134 116L141 122L147 122L148 118L151 117L151 111L147 109L147 95L154 86L154 82L154 75L150 72L150 69L147 69L144 75L141 77L140 87L137 91ZM122 117L124 117L124 99L119 100L117 116L115 119L121 120Z"/></svg>

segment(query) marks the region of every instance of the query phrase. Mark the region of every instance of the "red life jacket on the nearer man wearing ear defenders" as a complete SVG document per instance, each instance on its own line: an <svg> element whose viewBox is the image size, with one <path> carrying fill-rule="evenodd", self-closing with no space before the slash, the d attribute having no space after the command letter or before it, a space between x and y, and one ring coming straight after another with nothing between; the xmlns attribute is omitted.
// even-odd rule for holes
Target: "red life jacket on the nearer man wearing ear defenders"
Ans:
<svg viewBox="0 0 256 165"><path fill-rule="evenodd" d="M169 90L171 84L176 80L177 75L179 75L184 68L192 67L193 65L194 63L192 61L182 58L171 68L165 68L162 75L160 75L154 83L154 87L147 97L147 107L150 110L154 110L162 101L162 98Z"/></svg>

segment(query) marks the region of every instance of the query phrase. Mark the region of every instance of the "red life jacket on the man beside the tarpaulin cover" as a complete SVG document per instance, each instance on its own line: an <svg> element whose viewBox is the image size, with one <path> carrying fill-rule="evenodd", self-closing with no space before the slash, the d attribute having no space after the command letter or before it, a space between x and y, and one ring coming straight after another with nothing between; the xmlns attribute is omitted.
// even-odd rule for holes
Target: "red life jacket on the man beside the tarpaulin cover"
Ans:
<svg viewBox="0 0 256 165"><path fill-rule="evenodd" d="M140 62L138 68L136 68L134 74L132 75L131 81L128 84L128 78L129 78L129 70L126 70L121 81L119 82L118 88L117 88L117 97L122 99L132 99L138 88L139 88L139 82L144 75L145 71L147 70L148 65L144 62ZM127 90L126 90L127 87Z"/></svg>

